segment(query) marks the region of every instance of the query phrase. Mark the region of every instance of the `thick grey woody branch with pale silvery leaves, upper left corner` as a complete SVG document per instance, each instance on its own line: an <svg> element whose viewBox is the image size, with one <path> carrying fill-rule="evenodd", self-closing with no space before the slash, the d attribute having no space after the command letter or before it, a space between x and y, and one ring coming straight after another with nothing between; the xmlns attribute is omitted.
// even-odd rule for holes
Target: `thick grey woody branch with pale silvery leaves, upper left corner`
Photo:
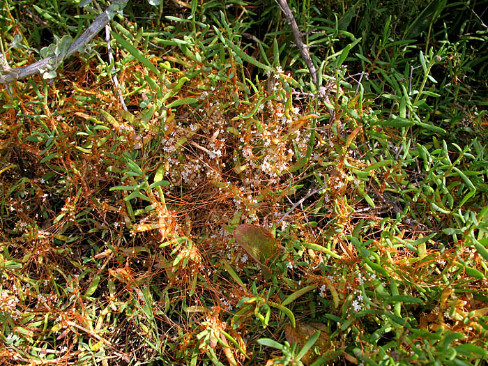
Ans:
<svg viewBox="0 0 488 366"><path fill-rule="evenodd" d="M42 60L22 68L10 67L5 57L0 55L0 84L15 82L16 80L25 79L37 73L45 73L47 70L54 71L64 59L75 54L86 43L89 43L114 18L116 13L125 8L127 3L128 0L114 0L103 13L96 17L96 20L90 24L77 40L70 43L70 47L65 52L55 52L51 56L47 56ZM56 47L54 46L54 48Z"/></svg>

